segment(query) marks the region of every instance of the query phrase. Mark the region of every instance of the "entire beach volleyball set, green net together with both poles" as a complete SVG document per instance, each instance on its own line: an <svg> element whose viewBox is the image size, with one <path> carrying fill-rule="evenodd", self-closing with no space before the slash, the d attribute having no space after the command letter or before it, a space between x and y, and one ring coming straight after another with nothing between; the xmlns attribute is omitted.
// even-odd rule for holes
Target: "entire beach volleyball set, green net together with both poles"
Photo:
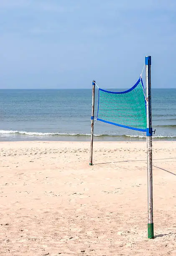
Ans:
<svg viewBox="0 0 176 256"><path fill-rule="evenodd" d="M147 180L148 180L148 238L154 238L153 230L153 174L152 174L152 129L151 114L151 56L145 56L146 97L140 78L133 87L123 92L112 92L98 86L97 120L124 128L146 132ZM143 69L144 69L143 67ZM92 116L90 139L90 162L92 165L94 134L95 81L92 81Z"/></svg>

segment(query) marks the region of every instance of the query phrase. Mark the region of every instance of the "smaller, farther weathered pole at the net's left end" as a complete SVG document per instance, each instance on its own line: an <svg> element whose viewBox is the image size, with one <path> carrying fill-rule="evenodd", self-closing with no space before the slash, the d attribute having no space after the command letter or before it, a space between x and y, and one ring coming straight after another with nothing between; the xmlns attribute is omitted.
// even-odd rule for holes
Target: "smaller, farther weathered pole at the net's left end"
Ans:
<svg viewBox="0 0 176 256"><path fill-rule="evenodd" d="M92 154L93 154L94 105L95 105L95 81L92 81L92 116L91 116L90 163L89 163L89 165L92 165Z"/></svg>

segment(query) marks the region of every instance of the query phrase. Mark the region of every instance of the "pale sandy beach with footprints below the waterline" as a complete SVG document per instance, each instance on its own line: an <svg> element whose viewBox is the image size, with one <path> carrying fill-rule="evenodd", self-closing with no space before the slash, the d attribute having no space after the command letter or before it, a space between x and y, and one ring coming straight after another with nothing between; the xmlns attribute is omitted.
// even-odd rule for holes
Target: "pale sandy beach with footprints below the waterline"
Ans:
<svg viewBox="0 0 176 256"><path fill-rule="evenodd" d="M0 255L176 255L176 141L0 143Z"/></svg>

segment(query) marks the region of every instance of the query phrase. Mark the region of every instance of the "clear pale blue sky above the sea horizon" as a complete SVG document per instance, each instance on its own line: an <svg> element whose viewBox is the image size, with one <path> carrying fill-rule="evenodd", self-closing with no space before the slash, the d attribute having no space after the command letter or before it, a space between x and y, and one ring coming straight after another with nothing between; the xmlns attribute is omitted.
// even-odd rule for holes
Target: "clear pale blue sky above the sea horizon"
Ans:
<svg viewBox="0 0 176 256"><path fill-rule="evenodd" d="M175 0L0 0L0 89L129 88L145 55L176 88Z"/></svg>

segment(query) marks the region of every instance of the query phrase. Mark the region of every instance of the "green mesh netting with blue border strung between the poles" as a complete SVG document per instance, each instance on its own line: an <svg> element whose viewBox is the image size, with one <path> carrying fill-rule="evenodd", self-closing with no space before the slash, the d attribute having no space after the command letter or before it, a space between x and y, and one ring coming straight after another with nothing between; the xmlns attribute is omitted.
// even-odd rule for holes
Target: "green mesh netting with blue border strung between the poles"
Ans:
<svg viewBox="0 0 176 256"><path fill-rule="evenodd" d="M142 78L124 92L110 92L99 88L97 120L146 131L146 102Z"/></svg>

